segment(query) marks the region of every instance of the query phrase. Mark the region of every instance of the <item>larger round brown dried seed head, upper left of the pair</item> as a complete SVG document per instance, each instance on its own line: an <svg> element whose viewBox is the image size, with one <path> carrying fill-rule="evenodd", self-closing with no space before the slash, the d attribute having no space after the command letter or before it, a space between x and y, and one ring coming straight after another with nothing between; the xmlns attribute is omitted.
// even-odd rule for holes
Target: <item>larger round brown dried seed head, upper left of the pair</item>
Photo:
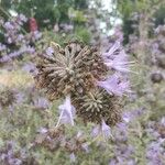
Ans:
<svg viewBox="0 0 165 165"><path fill-rule="evenodd" d="M107 67L96 48L77 42L68 43L64 48L52 43L51 55L40 58L36 84L45 88L51 100L67 94L85 92L95 86Z"/></svg>

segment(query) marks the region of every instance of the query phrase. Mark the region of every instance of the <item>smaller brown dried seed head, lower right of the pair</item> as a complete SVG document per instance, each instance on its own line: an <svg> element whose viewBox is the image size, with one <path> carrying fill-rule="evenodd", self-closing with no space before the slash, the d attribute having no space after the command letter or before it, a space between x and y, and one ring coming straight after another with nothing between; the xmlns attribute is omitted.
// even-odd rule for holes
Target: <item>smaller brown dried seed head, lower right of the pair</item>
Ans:
<svg viewBox="0 0 165 165"><path fill-rule="evenodd" d="M121 121L120 103L118 97L108 95L105 90L94 89L79 95L74 100L77 114L86 122L114 125Z"/></svg>

